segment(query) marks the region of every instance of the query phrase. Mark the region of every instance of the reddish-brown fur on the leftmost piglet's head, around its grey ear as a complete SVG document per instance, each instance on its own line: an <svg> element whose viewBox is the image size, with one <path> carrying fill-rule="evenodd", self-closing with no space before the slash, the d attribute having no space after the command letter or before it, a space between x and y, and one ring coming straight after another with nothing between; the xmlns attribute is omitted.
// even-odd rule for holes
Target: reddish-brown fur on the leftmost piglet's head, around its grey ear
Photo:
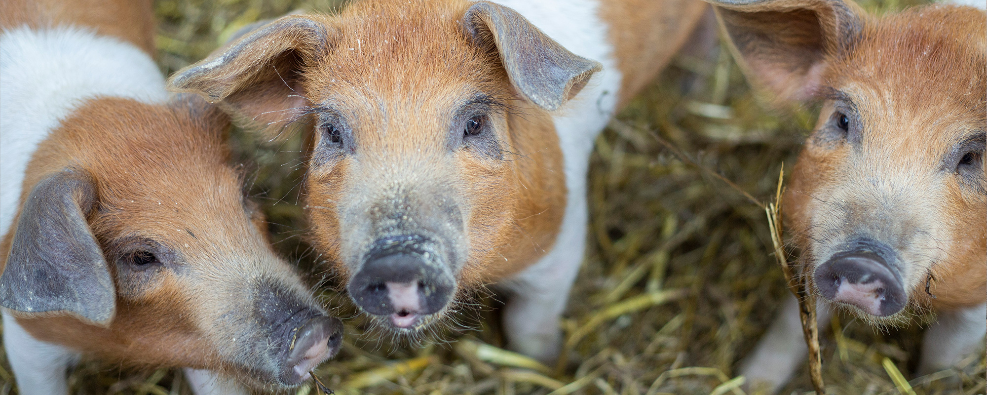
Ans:
<svg viewBox="0 0 987 395"><path fill-rule="evenodd" d="M223 190L240 185L239 176L225 165L229 157L223 143L228 126L225 118L216 114L190 118L166 107L101 99L88 102L62 124L38 147L25 177L22 201L38 181L66 167L89 172L97 181L105 211L92 218L94 234L104 249L108 247L105 243L124 234L154 235L172 245L191 246L183 251L190 256L205 255L214 245L230 243L202 237L250 238L251 233L263 231L238 228L242 222L226 220L243 212L223 210L240 207L242 197L240 191ZM196 188L202 185L214 188ZM171 198L159 200L162 197ZM214 203L203 205L203 200ZM0 261L7 259L12 235L9 232L5 237ZM215 365L216 356L209 353L205 338L189 321L198 315L193 310L215 306L193 304L196 299L188 297L187 286L168 276L137 299L121 297L118 290L116 316L110 328L71 317L22 318L18 322L39 340L114 361Z"/></svg>

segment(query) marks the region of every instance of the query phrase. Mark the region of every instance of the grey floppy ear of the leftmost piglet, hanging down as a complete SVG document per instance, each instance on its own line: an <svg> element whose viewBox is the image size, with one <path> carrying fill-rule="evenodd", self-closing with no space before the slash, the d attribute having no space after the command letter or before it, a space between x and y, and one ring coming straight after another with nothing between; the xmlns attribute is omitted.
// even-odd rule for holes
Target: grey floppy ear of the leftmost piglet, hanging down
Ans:
<svg viewBox="0 0 987 395"><path fill-rule="evenodd" d="M88 175L64 170L25 200L0 276L0 305L25 313L68 313L108 326L114 281L86 216L96 207Z"/></svg>

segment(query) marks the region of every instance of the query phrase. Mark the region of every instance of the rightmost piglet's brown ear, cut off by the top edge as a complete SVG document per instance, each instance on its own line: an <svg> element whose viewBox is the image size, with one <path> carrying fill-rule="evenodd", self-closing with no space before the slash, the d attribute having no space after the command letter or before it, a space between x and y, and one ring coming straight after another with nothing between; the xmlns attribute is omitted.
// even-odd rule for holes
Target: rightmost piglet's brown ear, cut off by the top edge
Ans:
<svg viewBox="0 0 987 395"><path fill-rule="evenodd" d="M783 101L812 99L827 59L850 50L863 12L843 0L707 0L755 85Z"/></svg>

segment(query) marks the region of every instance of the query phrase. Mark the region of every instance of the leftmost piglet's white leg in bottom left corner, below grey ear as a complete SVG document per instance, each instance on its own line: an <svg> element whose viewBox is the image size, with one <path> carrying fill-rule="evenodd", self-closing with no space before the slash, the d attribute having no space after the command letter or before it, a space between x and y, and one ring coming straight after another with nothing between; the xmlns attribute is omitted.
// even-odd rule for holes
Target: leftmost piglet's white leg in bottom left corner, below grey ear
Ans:
<svg viewBox="0 0 987 395"><path fill-rule="evenodd" d="M22 395L68 393L65 376L68 367L79 360L79 353L35 339L7 312L3 313L3 344Z"/></svg>

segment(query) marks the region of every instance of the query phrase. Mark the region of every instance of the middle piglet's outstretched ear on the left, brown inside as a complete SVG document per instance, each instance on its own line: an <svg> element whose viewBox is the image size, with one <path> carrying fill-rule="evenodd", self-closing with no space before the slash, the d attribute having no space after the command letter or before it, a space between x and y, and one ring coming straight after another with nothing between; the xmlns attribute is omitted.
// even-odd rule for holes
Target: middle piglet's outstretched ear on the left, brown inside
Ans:
<svg viewBox="0 0 987 395"><path fill-rule="evenodd" d="M197 94L257 126L284 126L307 113L301 69L325 56L329 40L325 24L282 17L175 73L168 89Z"/></svg>

